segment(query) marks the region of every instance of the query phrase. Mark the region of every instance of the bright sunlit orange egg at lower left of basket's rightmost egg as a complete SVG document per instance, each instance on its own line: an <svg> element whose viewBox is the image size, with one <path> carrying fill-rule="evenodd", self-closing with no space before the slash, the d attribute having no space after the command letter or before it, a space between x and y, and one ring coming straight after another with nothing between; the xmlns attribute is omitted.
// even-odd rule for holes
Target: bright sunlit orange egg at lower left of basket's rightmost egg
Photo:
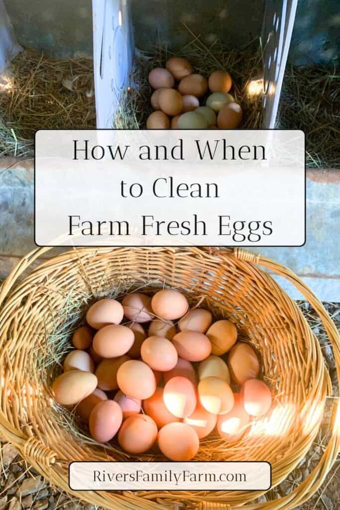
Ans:
<svg viewBox="0 0 340 510"><path fill-rule="evenodd" d="M229 413L218 416L217 430L225 441L238 441L244 435L249 421L250 416L244 409L241 395L234 393L233 408Z"/></svg>

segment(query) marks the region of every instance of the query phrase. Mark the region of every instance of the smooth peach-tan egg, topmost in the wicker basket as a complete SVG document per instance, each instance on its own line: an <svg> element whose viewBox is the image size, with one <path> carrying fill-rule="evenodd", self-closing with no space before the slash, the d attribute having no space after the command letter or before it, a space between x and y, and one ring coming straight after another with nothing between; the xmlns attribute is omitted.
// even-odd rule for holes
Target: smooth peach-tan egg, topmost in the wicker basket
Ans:
<svg viewBox="0 0 340 510"><path fill-rule="evenodd" d="M154 314L165 320L182 317L188 310L187 298L174 289L163 289L155 293L151 301Z"/></svg>

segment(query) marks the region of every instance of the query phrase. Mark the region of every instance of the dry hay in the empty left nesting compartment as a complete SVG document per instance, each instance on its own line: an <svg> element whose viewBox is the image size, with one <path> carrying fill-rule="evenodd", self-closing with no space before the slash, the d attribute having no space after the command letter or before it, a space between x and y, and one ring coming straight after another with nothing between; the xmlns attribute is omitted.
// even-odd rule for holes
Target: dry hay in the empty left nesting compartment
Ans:
<svg viewBox="0 0 340 510"><path fill-rule="evenodd" d="M20 53L0 79L0 157L33 157L38 129L94 129L93 61Z"/></svg>

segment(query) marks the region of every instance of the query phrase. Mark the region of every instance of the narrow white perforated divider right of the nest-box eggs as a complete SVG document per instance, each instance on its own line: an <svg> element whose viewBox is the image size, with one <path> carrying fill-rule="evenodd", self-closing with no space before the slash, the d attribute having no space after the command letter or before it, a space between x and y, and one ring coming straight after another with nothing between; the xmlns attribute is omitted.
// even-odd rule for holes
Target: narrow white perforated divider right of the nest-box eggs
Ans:
<svg viewBox="0 0 340 510"><path fill-rule="evenodd" d="M298 0L267 0L262 33L264 125L275 127Z"/></svg>

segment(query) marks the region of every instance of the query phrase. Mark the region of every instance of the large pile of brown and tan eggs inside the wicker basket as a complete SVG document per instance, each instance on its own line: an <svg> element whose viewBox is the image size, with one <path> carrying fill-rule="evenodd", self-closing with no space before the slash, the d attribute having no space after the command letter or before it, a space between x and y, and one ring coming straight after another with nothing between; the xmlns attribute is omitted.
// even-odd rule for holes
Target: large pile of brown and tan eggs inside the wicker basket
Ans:
<svg viewBox="0 0 340 510"><path fill-rule="evenodd" d="M52 391L75 405L99 443L116 435L140 454L155 443L173 461L189 461L216 427L227 443L242 438L251 417L265 415L272 396L258 379L253 348L236 326L189 308L174 289L96 301Z"/></svg>

